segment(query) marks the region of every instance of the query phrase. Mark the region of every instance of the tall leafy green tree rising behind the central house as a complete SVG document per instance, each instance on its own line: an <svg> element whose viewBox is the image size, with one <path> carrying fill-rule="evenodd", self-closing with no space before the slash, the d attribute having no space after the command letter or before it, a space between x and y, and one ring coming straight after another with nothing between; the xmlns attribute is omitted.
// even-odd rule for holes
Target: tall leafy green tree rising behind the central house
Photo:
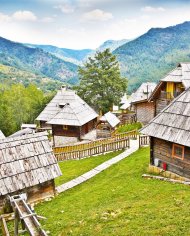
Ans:
<svg viewBox="0 0 190 236"><path fill-rule="evenodd" d="M79 67L79 79L79 96L103 113L118 104L127 89L127 80L121 77L119 63L109 49L89 57Z"/></svg>

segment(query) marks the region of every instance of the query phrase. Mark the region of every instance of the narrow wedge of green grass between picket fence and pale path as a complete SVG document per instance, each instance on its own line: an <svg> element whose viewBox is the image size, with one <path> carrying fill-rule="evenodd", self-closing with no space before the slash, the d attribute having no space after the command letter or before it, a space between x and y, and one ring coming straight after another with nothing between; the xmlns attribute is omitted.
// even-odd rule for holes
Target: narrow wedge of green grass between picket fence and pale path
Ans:
<svg viewBox="0 0 190 236"><path fill-rule="evenodd" d="M103 155L93 156L82 160L71 160L59 162L59 167L63 173L62 176L55 179L55 185L61 185L70 181L85 172L93 169L101 163L119 155L122 151L111 152Z"/></svg>

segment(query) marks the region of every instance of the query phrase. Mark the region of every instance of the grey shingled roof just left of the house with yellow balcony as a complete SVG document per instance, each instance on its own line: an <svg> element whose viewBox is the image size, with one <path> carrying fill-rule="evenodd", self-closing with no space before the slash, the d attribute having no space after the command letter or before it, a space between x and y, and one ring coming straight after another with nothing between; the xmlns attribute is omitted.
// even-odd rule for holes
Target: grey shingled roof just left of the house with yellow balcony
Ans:
<svg viewBox="0 0 190 236"><path fill-rule="evenodd" d="M137 89L137 91L131 95L130 102L138 103L146 101L150 97L155 88L156 88L156 83L152 82L142 83L141 86Z"/></svg>

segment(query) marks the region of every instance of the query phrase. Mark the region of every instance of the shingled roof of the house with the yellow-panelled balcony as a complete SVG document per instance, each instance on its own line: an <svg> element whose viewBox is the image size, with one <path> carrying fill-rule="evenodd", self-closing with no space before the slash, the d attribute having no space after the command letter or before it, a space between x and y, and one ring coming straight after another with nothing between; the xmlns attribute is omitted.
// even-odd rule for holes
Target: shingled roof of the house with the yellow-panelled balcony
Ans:
<svg viewBox="0 0 190 236"><path fill-rule="evenodd" d="M185 89L190 87L190 62L181 62L175 69L170 71L164 78L160 80L149 100L154 98L154 95L165 82L182 83Z"/></svg>

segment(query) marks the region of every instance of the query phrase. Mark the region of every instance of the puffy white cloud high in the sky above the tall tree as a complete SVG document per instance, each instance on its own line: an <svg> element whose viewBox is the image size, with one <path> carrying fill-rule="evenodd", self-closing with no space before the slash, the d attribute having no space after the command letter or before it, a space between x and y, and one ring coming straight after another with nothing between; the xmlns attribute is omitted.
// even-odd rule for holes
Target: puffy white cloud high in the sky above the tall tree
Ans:
<svg viewBox="0 0 190 236"><path fill-rule="evenodd" d="M86 12L83 15L83 19L89 21L107 21L113 18L112 13L105 12L100 9L95 9L93 11Z"/></svg>

